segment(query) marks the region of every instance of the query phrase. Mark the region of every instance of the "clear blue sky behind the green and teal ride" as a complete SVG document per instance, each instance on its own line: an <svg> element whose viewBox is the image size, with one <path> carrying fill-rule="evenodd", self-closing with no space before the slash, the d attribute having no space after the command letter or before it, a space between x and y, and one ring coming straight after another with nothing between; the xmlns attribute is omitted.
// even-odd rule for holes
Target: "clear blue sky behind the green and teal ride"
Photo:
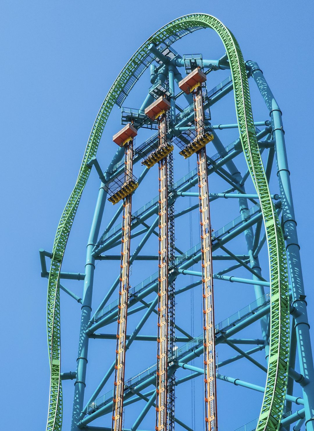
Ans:
<svg viewBox="0 0 314 431"><path fill-rule="evenodd" d="M47 280L40 278L38 249L50 251L52 248L57 224L75 184L98 109L112 82L132 53L158 28L172 19L192 12L210 13L230 28L239 41L245 60L252 59L259 63L283 111L305 293L308 295L309 318L312 327L314 325L312 311L314 238L311 228L313 2L220 0L200 1L196 4L186 0L157 2L2 0L0 133L3 154L1 169L3 429L43 430L46 426L49 389ZM179 51L181 54L203 52L204 57L210 58L223 55L223 47L213 38L212 33L202 31L198 34L199 36L193 35L191 39L186 38L186 41L179 42L178 47L182 47ZM220 78L217 77L216 80L213 81L214 85ZM131 106L139 107L142 97L147 92L148 79L145 85L143 84L142 89L136 87L138 99L134 96L130 101L133 103L134 100L134 105ZM209 84L208 88L214 85ZM254 103L253 101L253 107ZM261 98L258 99L258 103L261 104ZM128 106L128 103L124 105ZM228 119L234 122L232 104L230 106L231 113ZM257 102L256 109L258 113L261 112L262 117L256 117L257 120L267 119L264 115L265 109L259 108ZM217 118L221 113L217 110ZM111 136L120 127L117 108L114 109L113 120L114 122L108 125L99 150L99 159L104 167L115 150ZM219 122L222 121L213 118L213 123ZM142 136L146 138L146 135ZM226 145L236 136L226 134L225 137ZM140 139L137 144L141 142ZM109 146L108 152L106 142ZM176 159L178 158L179 156ZM193 162L191 163L191 167L194 168ZM175 180L186 172L188 169L185 165L185 170L177 173ZM85 245L98 184L97 175L93 172L71 233L63 266L65 271L84 272ZM157 191L157 187L155 190ZM139 197L135 198L133 208L138 209L156 194L153 191L142 200ZM237 214L226 215L224 219L223 209L219 211L213 215L215 228L223 225L220 218L227 222ZM195 232L193 245L198 243L198 231ZM189 238L184 244L183 240L183 250L189 248L188 241ZM155 270L156 268L152 266L148 270L148 275ZM135 269L135 274L140 271L140 268ZM107 277L106 274L109 272L108 268L107 273L100 272L101 276L97 282L104 283L104 277ZM116 273L113 278L115 277ZM141 278L138 278L138 281L140 280ZM82 282L69 282L67 285L80 294ZM249 295L245 293L248 290L239 292L237 302L234 303L235 309L241 308L241 304L245 306L254 299L251 291ZM96 293L95 299L100 300L102 296L103 293ZM61 297L64 329L63 371L75 371L79 306L65 295ZM190 297L187 296L187 306L189 300ZM229 302L223 303L223 296L221 297L217 309L218 321L235 310L234 304ZM179 316L178 319L182 317ZM152 324L152 328L154 325L155 323ZM115 327L112 331L115 331ZM311 332L314 336L313 330ZM196 328L195 335L200 333L201 329ZM312 342L314 343L313 337ZM111 355L114 346L110 343L102 344L100 353L93 349L94 347L91 347L91 352L100 356L98 362L95 359L91 359L90 362L94 364L95 369L101 368L98 370L101 376L107 364L107 352L110 351ZM155 346L150 349L154 351ZM133 355L132 360L135 364L138 361L136 356L138 352L134 351L130 355ZM154 355L151 357L154 358ZM154 359L149 359L147 365L153 361ZM112 356L108 359L108 363L111 362ZM241 372L242 368L247 366L246 363L240 362L238 368L235 366L227 370L229 375L237 377L235 373ZM135 372L141 368L144 367L135 369ZM128 377L132 374L134 372L129 370ZM242 377L244 378L245 374ZM263 384L263 375L257 375L256 380L253 375L250 378L249 381ZM99 377L95 377L93 383L97 384L97 380ZM73 382L66 381L63 387L67 409L64 430L67 430ZM92 387L89 389L89 394L92 389ZM254 398L255 393L251 394L248 390L234 389L231 385L224 384L221 386L219 396L220 399L227 400L220 415L222 431L233 430L246 422L243 416L241 417L241 409L245 409L246 406L249 406L248 421L257 417L256 406L260 405L261 397ZM249 399L251 397L252 401ZM201 398L199 402L201 403ZM237 406L236 412L231 407L232 404ZM186 409L188 413L181 407L181 418L186 415L186 422L191 424L191 405L187 404ZM201 407L199 410L195 407L195 412L202 415ZM110 422L99 424L109 426Z"/></svg>

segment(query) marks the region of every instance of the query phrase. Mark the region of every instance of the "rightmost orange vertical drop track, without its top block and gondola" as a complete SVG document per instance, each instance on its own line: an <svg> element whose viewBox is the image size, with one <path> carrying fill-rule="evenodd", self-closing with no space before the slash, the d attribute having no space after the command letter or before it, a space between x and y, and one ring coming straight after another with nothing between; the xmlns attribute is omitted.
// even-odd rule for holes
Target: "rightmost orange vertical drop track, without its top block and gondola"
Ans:
<svg viewBox="0 0 314 431"><path fill-rule="evenodd" d="M198 87L193 90L193 99L195 132L196 137L198 137L204 134L204 108L201 85L198 85ZM206 147L201 148L196 154L198 164L203 274L205 429L206 431L217 431L214 290Z"/></svg>

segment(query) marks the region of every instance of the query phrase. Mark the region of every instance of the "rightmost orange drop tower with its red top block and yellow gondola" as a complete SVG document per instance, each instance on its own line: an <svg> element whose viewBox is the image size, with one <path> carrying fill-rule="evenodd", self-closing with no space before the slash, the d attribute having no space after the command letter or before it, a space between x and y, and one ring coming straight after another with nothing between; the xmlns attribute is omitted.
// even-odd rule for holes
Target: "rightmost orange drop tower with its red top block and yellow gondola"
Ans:
<svg viewBox="0 0 314 431"><path fill-rule="evenodd" d="M212 133L205 130L204 98L202 83L206 75L197 67L182 81L179 88L185 93L193 94L194 131L192 140L184 146L180 154L184 158L197 155L197 175L200 201L201 256L202 256L202 295L203 295L203 329L204 329L204 386L205 386L205 429L217 431L217 393L215 365L215 322L214 322L214 288L211 247L211 225L209 208L209 189L207 177L206 144L213 140ZM180 141L179 141L180 142Z"/></svg>

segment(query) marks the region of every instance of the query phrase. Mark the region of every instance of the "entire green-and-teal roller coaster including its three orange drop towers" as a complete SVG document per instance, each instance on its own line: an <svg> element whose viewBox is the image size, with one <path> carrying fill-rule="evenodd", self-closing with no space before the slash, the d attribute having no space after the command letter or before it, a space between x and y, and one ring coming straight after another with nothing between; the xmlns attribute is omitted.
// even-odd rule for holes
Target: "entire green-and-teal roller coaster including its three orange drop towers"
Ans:
<svg viewBox="0 0 314 431"><path fill-rule="evenodd" d="M173 44L207 28L223 43L220 59L176 52ZM149 85L145 76L150 76ZM220 83L210 90L209 82L215 80ZM249 82L256 84L266 104L266 120L253 120ZM138 100L139 109L126 108L122 104L135 84L146 85L148 95ZM236 123L223 124L221 113L212 118L211 111L216 103L231 105L232 93ZM123 127L116 124L120 130L113 142L107 137L103 142L107 149L118 147L102 169L96 153L114 105L121 108ZM145 140L150 131L156 132ZM232 131L239 136L224 146ZM195 163L192 170L190 163ZM180 178L179 171L187 173ZM66 244L90 174L98 175L101 184L85 273L63 272ZM243 425L237 431L289 431L291 426L314 431L314 367L289 175L282 112L263 72L256 62L244 61L225 25L207 14L182 16L141 45L100 107L53 250L40 250L41 275L48 278L47 431L62 428L66 380L75 381L72 431L135 431L143 426L157 431L234 430L232 407L223 403L226 382L246 388ZM191 239L195 232L196 245ZM184 252L180 247L189 239ZM141 254L148 250L153 254ZM98 262L107 265L101 285L94 283ZM81 296L61 284L62 279L84 281ZM233 290L226 292L232 313L226 314L221 292L231 283ZM246 285L252 290L245 297L251 300L238 307L232 298ZM61 367L60 290L81 305L79 350L71 372ZM92 303L93 290L104 299ZM97 332L106 326L107 333ZM194 327L201 335L195 336ZM91 339L102 343L102 353L88 363ZM244 350L243 345L251 348ZM248 380L254 370L260 372L264 386L221 374L231 363ZM246 374L250 367L251 375ZM99 372L103 375L93 388L88 379ZM184 389L187 382L192 390ZM261 393L256 412L246 408L250 391ZM188 415L196 397L202 400L203 414L191 424ZM219 425L226 423L226 413L228 425Z"/></svg>

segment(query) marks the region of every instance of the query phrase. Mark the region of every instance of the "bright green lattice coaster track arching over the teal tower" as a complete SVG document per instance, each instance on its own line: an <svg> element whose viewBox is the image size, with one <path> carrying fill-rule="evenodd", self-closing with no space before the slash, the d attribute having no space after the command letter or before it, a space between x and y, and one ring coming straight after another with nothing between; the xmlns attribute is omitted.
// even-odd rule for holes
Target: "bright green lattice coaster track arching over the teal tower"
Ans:
<svg viewBox="0 0 314 431"><path fill-rule="evenodd" d="M96 155L101 134L113 105L116 103L121 106L139 76L153 61L153 57L148 51L149 44L153 42L158 46L163 42L170 45L185 34L200 28L215 30L226 48L233 78L235 109L242 147L263 212L270 262L271 337L266 389L256 430L279 429L289 366L289 288L283 234L279 219L273 209L257 146L248 78L242 52L233 34L218 19L207 14L196 13L182 16L165 25L136 51L110 88L92 128L79 176L63 211L53 245L47 297L47 333L51 368L47 431L61 430L62 427L59 275L75 212L90 172L86 163Z"/></svg>

